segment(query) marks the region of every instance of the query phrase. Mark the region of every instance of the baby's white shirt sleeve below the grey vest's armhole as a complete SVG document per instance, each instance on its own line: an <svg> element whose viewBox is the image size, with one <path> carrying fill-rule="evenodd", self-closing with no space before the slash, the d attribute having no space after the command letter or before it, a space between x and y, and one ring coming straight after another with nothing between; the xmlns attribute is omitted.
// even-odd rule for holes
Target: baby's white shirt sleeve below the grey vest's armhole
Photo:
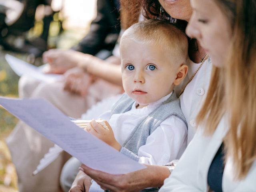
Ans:
<svg viewBox="0 0 256 192"><path fill-rule="evenodd" d="M146 144L139 148L139 162L163 165L180 158L186 149L187 133L186 124L177 116L170 116L148 136Z"/></svg>

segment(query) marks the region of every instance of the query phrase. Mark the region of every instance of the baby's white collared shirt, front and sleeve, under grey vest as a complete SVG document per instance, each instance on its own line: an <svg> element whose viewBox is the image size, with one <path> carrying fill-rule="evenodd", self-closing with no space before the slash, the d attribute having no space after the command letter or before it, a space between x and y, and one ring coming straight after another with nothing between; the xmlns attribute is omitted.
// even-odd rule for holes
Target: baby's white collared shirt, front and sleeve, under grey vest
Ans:
<svg viewBox="0 0 256 192"><path fill-rule="evenodd" d="M136 102L132 109L121 114L108 111L100 118L107 120L112 127L116 140L122 145L131 134L132 130L155 110L162 102L167 100L172 93L146 107L136 109ZM187 144L186 124L177 116L170 116L148 136L146 144L138 150L140 163L162 165L171 160L180 158Z"/></svg>

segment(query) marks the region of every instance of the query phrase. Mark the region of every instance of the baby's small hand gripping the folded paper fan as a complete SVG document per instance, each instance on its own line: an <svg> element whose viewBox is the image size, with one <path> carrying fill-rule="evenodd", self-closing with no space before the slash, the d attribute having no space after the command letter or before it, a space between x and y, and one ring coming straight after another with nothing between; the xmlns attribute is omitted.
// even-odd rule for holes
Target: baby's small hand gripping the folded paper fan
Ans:
<svg viewBox="0 0 256 192"><path fill-rule="evenodd" d="M106 144L120 151L121 145L116 141L112 128L110 127L107 121L104 121L104 123L108 127L108 130L93 119L88 124L87 131L90 134L93 134L94 136L98 137L100 140L104 141Z"/></svg>

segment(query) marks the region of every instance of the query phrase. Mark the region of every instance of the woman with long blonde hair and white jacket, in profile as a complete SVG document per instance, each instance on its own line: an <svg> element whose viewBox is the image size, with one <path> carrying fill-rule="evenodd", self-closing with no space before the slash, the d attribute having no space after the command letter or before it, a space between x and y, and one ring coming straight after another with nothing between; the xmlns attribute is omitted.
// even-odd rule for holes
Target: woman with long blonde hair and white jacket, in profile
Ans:
<svg viewBox="0 0 256 192"><path fill-rule="evenodd" d="M191 5L186 32L214 68L198 131L160 191L256 191L256 1Z"/></svg>

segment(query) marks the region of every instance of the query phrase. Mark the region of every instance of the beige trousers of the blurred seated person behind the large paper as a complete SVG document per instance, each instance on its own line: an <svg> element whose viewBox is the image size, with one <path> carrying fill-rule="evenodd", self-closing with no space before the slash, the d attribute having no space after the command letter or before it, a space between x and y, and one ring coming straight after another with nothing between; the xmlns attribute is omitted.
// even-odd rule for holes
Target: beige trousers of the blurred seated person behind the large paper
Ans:
<svg viewBox="0 0 256 192"><path fill-rule="evenodd" d="M67 116L79 118L96 102L122 92L121 87L104 80L92 84L85 97L67 92L63 87L62 82L45 84L23 76L19 81L19 95L25 98L44 98ZM23 122L18 122L6 142L16 166L20 192L59 191L60 172L70 157L68 154L63 153L42 172L32 176L40 159L54 144Z"/></svg>

